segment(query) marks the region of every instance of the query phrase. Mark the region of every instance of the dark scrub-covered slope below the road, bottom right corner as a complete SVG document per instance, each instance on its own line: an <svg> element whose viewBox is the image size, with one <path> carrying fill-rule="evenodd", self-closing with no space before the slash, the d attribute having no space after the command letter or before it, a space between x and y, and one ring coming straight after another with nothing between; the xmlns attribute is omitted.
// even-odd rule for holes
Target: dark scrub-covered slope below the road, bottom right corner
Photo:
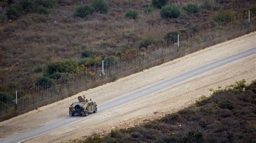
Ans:
<svg viewBox="0 0 256 143"><path fill-rule="evenodd" d="M255 142L256 82L213 90L190 108L73 142Z"/></svg>

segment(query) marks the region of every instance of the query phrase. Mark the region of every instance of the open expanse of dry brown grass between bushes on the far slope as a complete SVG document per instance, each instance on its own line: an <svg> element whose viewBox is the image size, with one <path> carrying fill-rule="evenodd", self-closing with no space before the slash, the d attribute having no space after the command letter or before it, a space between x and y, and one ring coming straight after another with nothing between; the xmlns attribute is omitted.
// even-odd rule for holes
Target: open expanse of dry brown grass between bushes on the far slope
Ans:
<svg viewBox="0 0 256 143"><path fill-rule="evenodd" d="M42 73L34 73L36 68L44 69L52 61L78 60L84 49L94 48L113 55L133 47L133 38L138 46L139 41L146 37L163 39L167 32L210 20L201 17L202 13L188 16L185 12L177 19L161 19L159 10L151 14L143 11L143 6L151 3L147 0L109 1L110 9L106 14L93 13L78 18L73 16L73 10L80 1L61 2L48 16L28 14L0 27L0 90L21 88L28 77L34 82L42 76ZM181 7L189 2L173 1L169 4ZM247 5L243 4L240 9ZM231 7L227 4L225 8ZM139 12L138 19L125 17L130 8Z"/></svg>

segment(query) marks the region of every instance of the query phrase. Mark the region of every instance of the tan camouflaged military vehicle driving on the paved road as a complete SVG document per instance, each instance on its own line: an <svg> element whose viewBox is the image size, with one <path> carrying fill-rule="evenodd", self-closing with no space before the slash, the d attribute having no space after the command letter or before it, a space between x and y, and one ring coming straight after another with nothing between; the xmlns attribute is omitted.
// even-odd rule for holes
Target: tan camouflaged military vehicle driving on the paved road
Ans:
<svg viewBox="0 0 256 143"><path fill-rule="evenodd" d="M88 116L89 113L97 112L97 104L93 102L92 99L88 100L85 97L78 96L78 102L73 102L69 106L69 115L75 116L75 114L79 114L82 116Z"/></svg>

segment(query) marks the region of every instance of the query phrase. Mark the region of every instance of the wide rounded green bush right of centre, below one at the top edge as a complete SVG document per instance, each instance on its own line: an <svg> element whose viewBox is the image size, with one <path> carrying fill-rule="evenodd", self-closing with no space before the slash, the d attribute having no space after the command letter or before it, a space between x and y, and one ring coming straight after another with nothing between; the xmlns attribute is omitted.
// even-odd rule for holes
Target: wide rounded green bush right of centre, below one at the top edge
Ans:
<svg viewBox="0 0 256 143"><path fill-rule="evenodd" d="M180 16L180 9L176 5L164 6L160 15L162 18L177 18Z"/></svg>

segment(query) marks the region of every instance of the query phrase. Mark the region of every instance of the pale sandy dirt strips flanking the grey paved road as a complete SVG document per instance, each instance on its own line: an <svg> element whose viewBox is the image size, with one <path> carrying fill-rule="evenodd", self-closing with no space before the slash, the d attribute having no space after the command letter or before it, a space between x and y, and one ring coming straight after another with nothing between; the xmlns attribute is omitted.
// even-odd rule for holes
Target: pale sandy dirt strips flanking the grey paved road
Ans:
<svg viewBox="0 0 256 143"><path fill-rule="evenodd" d="M184 56L183 58L165 63L138 74L127 76L117 82L109 83L95 89L81 92L78 95L86 95L93 98L100 105L114 97L127 94L151 83L174 77L184 71L204 65L207 62L224 58L253 48L256 45L256 33L250 33L243 37L224 42L204 49L202 51ZM125 127L140 123L144 119L152 119L163 116L166 112L177 111L191 104L199 95L209 95L210 87L228 85L236 80L245 78L251 81L255 76L255 55L236 61L230 65L215 69L185 83L176 85L153 96L142 98L139 101L126 103L116 110L90 115L86 121L72 124L55 132L42 135L30 141L63 141L80 138L95 132L107 132L112 126ZM157 75L157 76L156 76ZM31 131L35 128L51 123L58 118L68 116L68 105L77 96L64 99L57 103L39 108L24 115L12 118L0 123L1 138L13 136L17 133ZM157 115L153 112L159 112ZM164 113L161 113L164 112ZM86 127L86 130L83 129ZM6 130L8 129L8 130ZM76 133L76 130L82 130Z"/></svg>

